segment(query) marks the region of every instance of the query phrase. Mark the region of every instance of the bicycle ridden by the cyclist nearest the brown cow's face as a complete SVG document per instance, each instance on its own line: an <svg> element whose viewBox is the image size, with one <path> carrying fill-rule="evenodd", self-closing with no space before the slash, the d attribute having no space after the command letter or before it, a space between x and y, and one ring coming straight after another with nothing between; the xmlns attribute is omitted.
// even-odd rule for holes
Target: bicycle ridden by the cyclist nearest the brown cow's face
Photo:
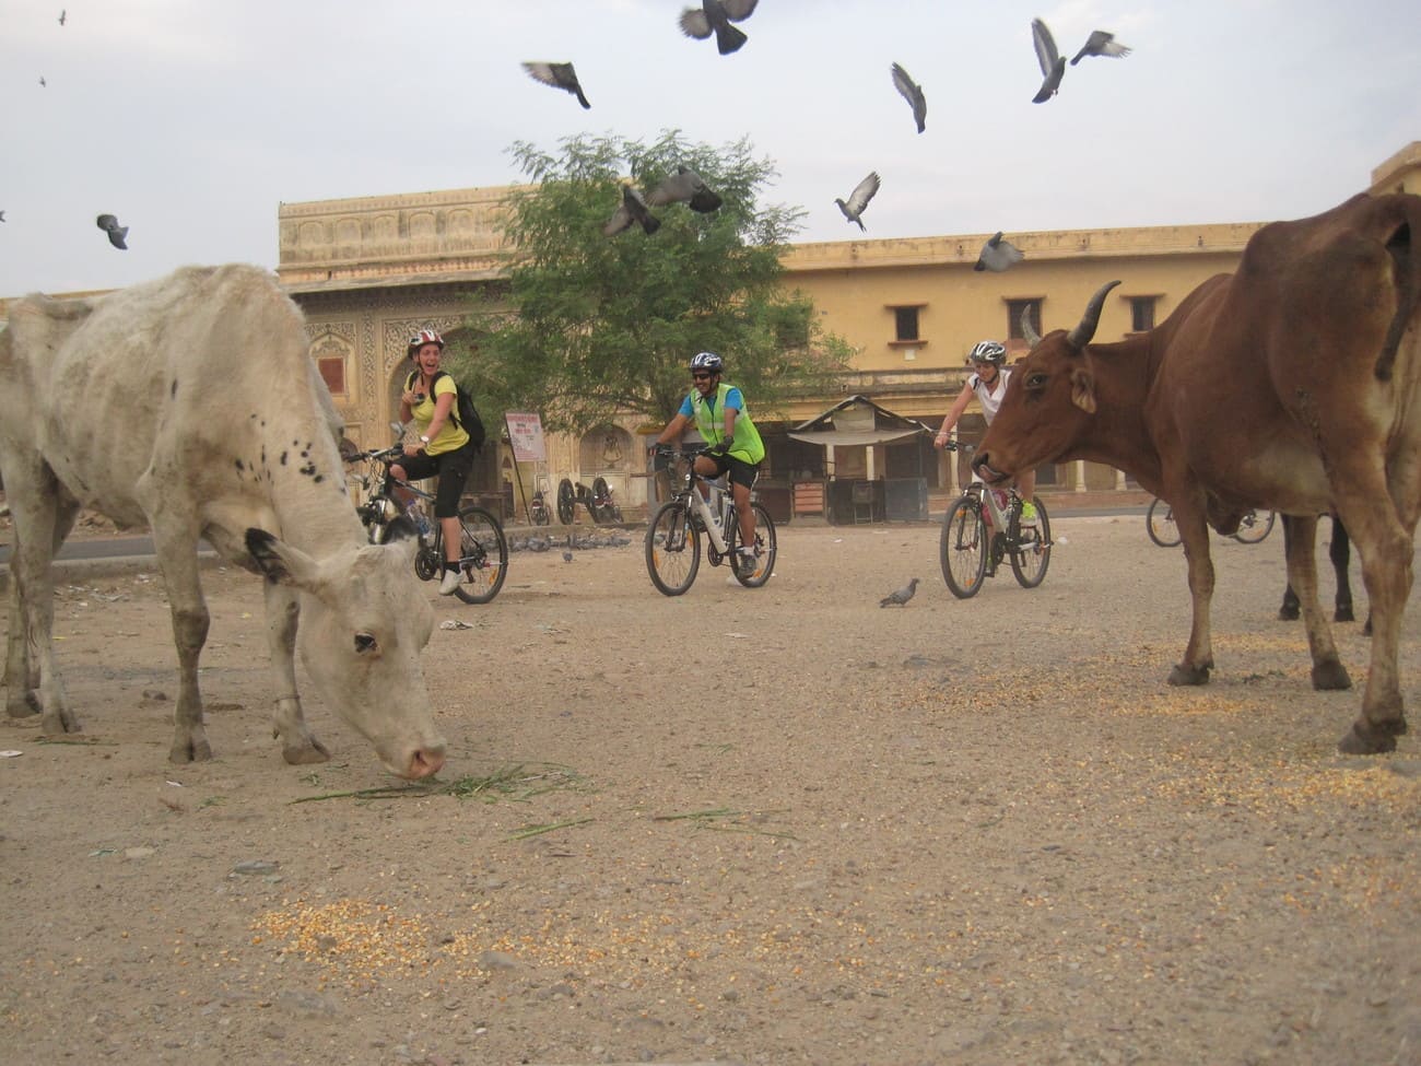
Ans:
<svg viewBox="0 0 1421 1066"><path fill-rule="evenodd" d="M969 445L949 442L949 452ZM959 600L976 596L985 577L995 577L1003 559L1022 588L1036 588L1052 561L1052 520L1046 505L1036 499L1036 520L1022 522L1022 497L1016 488L990 489L972 482L952 502L942 519L938 542L942 580Z"/></svg>

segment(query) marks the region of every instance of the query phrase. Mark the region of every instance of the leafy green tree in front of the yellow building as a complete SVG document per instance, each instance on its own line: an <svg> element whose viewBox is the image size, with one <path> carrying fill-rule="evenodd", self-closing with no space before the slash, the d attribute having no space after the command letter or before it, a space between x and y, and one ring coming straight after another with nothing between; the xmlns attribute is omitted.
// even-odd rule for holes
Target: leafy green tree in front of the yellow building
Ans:
<svg viewBox="0 0 1421 1066"><path fill-rule="evenodd" d="M477 355L462 374L480 404L539 411L554 431L624 412L659 425L686 392L689 358L712 350L763 419L847 365L848 345L823 331L810 298L782 286L801 212L757 205L774 171L746 141L718 151L675 131L649 145L583 135L556 156L524 142L510 152L533 183L507 203L507 283L468 323ZM624 181L649 193L678 166L720 195L719 210L672 203L652 209L655 233L603 233Z"/></svg>

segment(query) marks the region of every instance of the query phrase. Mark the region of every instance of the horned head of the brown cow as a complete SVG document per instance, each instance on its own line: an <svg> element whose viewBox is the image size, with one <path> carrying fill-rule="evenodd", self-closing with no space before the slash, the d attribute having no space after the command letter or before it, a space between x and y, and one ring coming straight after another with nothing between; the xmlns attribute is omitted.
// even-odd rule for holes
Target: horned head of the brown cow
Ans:
<svg viewBox="0 0 1421 1066"><path fill-rule="evenodd" d="M1022 333L1032 350L1012 367L1002 407L982 438L972 469L989 485L1052 462L1074 443L1096 414L1096 377L1086 345L1096 335L1106 296L1120 281L1100 287L1080 323L1037 337L1026 314Z"/></svg>

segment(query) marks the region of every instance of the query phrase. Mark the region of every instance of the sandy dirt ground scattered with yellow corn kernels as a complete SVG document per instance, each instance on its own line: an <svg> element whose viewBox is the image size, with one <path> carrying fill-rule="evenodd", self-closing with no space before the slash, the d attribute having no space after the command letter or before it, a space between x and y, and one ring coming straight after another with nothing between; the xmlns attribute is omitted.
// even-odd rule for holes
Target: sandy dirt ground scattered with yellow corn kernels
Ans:
<svg viewBox="0 0 1421 1066"><path fill-rule="evenodd" d="M1054 532L1040 588L969 601L929 524L789 526L755 591L659 596L638 532L517 553L486 607L426 586L472 628L426 654L425 793L310 687L334 759L281 762L260 588L216 567L216 758L169 765L155 571L65 569L84 739L0 721L0 1060L1421 1062L1417 613L1412 732L1344 758L1277 533L1215 539L1218 668L1178 689L1178 550Z"/></svg>

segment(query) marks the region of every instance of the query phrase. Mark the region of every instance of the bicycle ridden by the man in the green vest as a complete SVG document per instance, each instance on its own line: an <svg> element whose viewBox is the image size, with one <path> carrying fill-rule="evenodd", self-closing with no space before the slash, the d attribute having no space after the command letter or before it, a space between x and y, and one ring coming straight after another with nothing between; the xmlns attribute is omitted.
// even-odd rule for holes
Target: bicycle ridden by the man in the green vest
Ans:
<svg viewBox="0 0 1421 1066"><path fill-rule="evenodd" d="M672 463L684 463L686 468L685 482L675 496L662 503L647 524L647 573L651 583L665 596L681 596L696 580L701 570L701 537L709 542L705 547L710 566L720 566L730 559L740 539L740 522L730 499L729 485L723 476L703 478L696 473L695 456L703 449L657 451L657 469L662 470ZM709 500L702 495L702 486L708 490ZM735 580L746 588L759 588L770 580L774 573L774 557L777 540L774 536L774 520L764 507L753 502L755 512L755 569L745 570L743 564L732 561L730 573Z"/></svg>

